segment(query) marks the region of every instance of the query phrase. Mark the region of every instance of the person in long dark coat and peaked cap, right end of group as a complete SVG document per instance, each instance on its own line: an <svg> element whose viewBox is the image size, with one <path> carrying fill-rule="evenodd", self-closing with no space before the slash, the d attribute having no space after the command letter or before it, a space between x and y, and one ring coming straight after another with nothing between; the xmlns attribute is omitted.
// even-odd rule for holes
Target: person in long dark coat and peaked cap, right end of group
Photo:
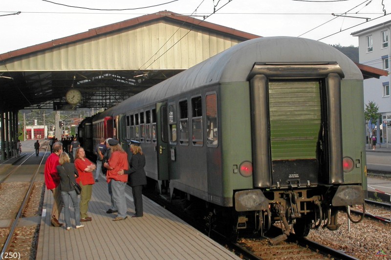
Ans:
<svg viewBox="0 0 391 260"><path fill-rule="evenodd" d="M130 153L128 154L129 170L120 173L129 174L128 182L133 194L134 210L132 217L143 217L143 186L147 184L147 176L144 171L145 155L141 150L140 142L130 140Z"/></svg>

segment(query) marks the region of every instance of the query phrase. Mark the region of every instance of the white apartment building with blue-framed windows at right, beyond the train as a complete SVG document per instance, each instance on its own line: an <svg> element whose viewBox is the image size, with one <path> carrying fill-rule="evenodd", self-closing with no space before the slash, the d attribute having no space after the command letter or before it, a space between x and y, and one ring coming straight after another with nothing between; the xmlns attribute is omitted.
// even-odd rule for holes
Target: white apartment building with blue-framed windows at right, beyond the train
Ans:
<svg viewBox="0 0 391 260"><path fill-rule="evenodd" d="M380 140L381 143L391 143L390 29L391 21L388 21L351 34L358 37L359 62L388 71L388 76L380 76L379 79L371 78L364 81L364 103L368 104L373 101L382 114L383 122L377 123L377 128L384 132L384 136L380 136L380 131L377 131L377 140ZM388 128L386 128L387 125Z"/></svg>

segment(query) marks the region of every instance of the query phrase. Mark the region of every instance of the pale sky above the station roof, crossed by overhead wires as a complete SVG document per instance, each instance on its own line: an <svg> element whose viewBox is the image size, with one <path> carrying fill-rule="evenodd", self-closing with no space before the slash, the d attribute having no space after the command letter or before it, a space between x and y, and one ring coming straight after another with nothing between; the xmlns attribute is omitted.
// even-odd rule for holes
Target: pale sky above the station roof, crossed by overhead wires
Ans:
<svg viewBox="0 0 391 260"><path fill-rule="evenodd" d="M391 20L390 0L1 0L0 53L164 10L263 37L342 46L358 46L352 32Z"/></svg>

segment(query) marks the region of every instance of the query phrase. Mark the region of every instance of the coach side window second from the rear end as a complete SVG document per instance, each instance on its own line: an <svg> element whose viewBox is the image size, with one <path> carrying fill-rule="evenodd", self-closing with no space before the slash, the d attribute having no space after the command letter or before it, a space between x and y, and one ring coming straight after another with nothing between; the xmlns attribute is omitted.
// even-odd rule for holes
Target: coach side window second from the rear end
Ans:
<svg viewBox="0 0 391 260"><path fill-rule="evenodd" d="M193 145L202 146L202 99L200 96L192 98L192 130Z"/></svg>

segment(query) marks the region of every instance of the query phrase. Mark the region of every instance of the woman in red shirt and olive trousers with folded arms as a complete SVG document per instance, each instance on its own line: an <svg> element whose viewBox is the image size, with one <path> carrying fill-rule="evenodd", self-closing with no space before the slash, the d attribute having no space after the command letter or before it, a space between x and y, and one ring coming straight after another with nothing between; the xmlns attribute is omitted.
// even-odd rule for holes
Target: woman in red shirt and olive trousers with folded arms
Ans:
<svg viewBox="0 0 391 260"><path fill-rule="evenodd" d="M95 184L92 172L96 169L96 166L86 158L86 152L83 147L76 149L75 168L79 173L76 181L82 187L82 193L80 194L80 221L91 221L92 218L88 217L87 211L88 202L91 200L92 195L92 185Z"/></svg>

